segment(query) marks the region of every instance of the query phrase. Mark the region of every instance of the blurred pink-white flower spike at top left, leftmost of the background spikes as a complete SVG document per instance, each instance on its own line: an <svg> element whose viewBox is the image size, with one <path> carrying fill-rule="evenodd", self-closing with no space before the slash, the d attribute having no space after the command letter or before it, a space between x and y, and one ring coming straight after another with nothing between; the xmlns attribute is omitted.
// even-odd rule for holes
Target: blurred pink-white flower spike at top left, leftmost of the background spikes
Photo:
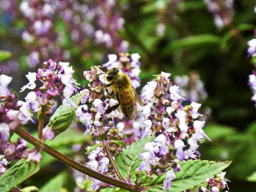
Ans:
<svg viewBox="0 0 256 192"><path fill-rule="evenodd" d="M59 6L58 1L23 0L21 2L21 12L29 25L22 33L22 38L30 50L27 57L30 67L35 67L49 58L54 58L56 61L69 58L69 53L61 49L58 42L59 34L54 29L56 20L54 14Z"/></svg>

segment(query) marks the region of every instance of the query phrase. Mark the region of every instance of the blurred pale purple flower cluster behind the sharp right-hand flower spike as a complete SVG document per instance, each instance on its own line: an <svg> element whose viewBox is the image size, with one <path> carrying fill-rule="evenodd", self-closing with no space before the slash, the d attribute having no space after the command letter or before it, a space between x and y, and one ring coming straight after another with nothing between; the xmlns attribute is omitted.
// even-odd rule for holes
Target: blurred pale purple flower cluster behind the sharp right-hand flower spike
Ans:
<svg viewBox="0 0 256 192"><path fill-rule="evenodd" d="M174 83L179 86L180 95L187 98L189 102L202 102L208 96L196 72L191 72L188 76L175 76Z"/></svg>

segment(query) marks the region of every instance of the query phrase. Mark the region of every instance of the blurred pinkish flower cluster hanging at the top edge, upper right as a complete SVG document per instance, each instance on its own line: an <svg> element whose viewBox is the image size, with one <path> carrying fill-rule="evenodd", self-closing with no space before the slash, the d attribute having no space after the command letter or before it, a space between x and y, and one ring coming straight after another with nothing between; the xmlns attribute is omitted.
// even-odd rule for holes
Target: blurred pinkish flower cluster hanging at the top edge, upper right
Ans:
<svg viewBox="0 0 256 192"><path fill-rule="evenodd" d="M233 0L205 0L208 3L208 10L214 15L217 27L222 28L232 22L233 19Z"/></svg>

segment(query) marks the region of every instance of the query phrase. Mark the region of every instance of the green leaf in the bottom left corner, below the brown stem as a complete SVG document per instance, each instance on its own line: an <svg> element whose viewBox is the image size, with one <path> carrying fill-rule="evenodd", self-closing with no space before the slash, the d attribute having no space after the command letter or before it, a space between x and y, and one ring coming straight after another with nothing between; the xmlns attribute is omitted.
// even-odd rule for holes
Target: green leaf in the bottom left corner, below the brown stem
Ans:
<svg viewBox="0 0 256 192"><path fill-rule="evenodd" d="M11 190L16 185L38 172L39 169L39 163L28 162L26 159L19 160L3 175L1 175L0 191L7 192Z"/></svg>

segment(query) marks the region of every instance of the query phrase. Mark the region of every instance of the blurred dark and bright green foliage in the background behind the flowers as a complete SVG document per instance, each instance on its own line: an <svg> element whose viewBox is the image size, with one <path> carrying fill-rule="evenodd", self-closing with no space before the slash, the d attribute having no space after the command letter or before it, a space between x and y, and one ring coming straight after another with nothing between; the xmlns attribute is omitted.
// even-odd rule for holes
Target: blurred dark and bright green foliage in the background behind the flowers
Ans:
<svg viewBox="0 0 256 192"><path fill-rule="evenodd" d="M156 35L156 30L161 6L167 6L168 0L116 2L126 21L119 34L129 42L130 53L138 52L141 55L142 86L153 74L161 71L171 73L171 78L188 74L191 70L197 71L209 94L202 106L212 110L205 128L212 142L200 144L202 159L232 160L232 165L227 169L227 177L232 181L229 184L231 191L253 189L256 185L247 182L247 177L251 175L248 181L255 181L256 109L250 100L253 94L247 81L255 61L247 58L247 41L254 37L255 2L235 0L233 22L218 29L203 0L183 0L174 9L175 12L168 13L171 16L165 17L165 33L162 37ZM22 17L13 20L10 25L0 22L0 50L4 50L0 51L0 65L5 67L3 74L15 77L15 82L12 82L16 84L13 85L15 88L26 84L24 75L35 70L29 69L26 60L29 52L21 39L21 32L26 27ZM91 43L90 54L85 55L81 48L74 46L68 26L60 18L57 19L55 28L61 37L60 44L71 52L70 62L82 85L87 83L82 71L88 70L92 65L105 63L107 54L114 53L114 50L105 50ZM18 70L8 71L8 61L17 61ZM49 145L72 156L71 145L89 142L90 138L82 133L69 131L72 129L60 134ZM68 137L69 134L73 137ZM36 174L25 184L34 185L33 180L40 187L50 178L52 180L49 182L65 183L67 173L54 177L61 169L51 169L56 161L44 152L42 156L40 174ZM45 174L47 177L40 177ZM70 183L69 187L74 187L74 180ZM58 189L60 188L62 186ZM47 184L43 189L47 189Z"/></svg>

